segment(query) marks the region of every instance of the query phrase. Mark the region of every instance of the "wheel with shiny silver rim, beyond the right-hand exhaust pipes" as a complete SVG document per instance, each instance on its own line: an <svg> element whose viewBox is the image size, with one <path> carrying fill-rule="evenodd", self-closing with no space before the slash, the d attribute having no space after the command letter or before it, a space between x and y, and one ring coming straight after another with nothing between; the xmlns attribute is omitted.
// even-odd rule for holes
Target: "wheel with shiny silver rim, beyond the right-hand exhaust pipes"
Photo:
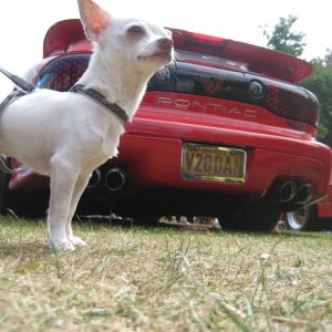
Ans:
<svg viewBox="0 0 332 332"><path fill-rule="evenodd" d="M322 230L317 205L284 214L284 224L290 230Z"/></svg>

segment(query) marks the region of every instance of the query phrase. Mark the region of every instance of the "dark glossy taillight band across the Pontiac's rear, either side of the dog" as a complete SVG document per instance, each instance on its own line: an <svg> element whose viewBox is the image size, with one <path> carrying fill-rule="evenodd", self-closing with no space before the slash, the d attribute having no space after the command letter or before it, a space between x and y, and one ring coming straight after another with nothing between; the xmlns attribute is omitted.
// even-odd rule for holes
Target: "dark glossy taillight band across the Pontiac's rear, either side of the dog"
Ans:
<svg viewBox="0 0 332 332"><path fill-rule="evenodd" d="M191 35L191 38L199 38L199 35ZM252 104L278 116L317 127L319 104L308 90L250 73L215 68L212 63L206 65L190 63L196 58L191 54L189 63L178 61L168 74L155 75L149 81L147 90ZM201 61L201 56L198 58ZM68 54L54 59L41 71L37 82L38 87L68 91L86 70L89 59L89 53ZM212 62L215 59L208 61ZM201 108L206 106L201 105Z"/></svg>

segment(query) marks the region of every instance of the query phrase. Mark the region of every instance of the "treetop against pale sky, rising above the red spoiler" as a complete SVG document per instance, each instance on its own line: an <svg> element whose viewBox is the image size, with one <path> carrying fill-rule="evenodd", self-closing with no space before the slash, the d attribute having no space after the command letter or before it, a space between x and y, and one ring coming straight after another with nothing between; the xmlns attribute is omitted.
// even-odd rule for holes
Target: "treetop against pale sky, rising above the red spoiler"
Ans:
<svg viewBox="0 0 332 332"><path fill-rule="evenodd" d="M267 29L263 29L263 35L268 40L268 48L289 53L294 56L302 55L304 46L307 45L307 43L303 42L305 33L291 32L298 18L292 14L288 18L280 18L279 23L274 25L272 34L270 34Z"/></svg>

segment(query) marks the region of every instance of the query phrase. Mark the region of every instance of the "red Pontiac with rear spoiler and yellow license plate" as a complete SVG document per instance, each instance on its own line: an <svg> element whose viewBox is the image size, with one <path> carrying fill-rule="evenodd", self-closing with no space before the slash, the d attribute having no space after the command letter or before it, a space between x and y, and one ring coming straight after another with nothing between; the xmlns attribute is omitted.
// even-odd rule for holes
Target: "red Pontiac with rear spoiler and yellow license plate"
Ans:
<svg viewBox="0 0 332 332"><path fill-rule="evenodd" d="M311 64L172 30L176 62L151 80L118 157L95 170L79 209L137 220L218 216L226 228L271 230L280 212L324 198L331 152L315 139L318 101L298 85ZM68 91L91 50L79 20L59 22L45 35L43 60L25 79L40 89ZM30 169L10 179L2 175L1 184L2 209L20 210L20 203L30 210L35 195L46 198L40 193L48 179Z"/></svg>

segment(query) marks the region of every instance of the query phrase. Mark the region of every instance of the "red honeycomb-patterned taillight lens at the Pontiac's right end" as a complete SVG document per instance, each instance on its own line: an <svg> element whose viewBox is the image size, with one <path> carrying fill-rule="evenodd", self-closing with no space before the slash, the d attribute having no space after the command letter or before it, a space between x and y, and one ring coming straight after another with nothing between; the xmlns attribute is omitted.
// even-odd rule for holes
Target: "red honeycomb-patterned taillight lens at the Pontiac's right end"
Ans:
<svg viewBox="0 0 332 332"><path fill-rule="evenodd" d="M300 86L267 84L266 107L272 113L312 126L318 125L319 104L313 94Z"/></svg>

